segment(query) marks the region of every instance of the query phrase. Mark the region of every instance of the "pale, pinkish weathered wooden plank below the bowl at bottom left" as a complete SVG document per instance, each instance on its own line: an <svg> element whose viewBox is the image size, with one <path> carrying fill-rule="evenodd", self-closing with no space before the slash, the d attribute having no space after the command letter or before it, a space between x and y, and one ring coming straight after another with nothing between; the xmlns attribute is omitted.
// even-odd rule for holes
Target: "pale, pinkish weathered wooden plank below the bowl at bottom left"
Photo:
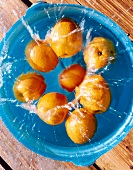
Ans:
<svg viewBox="0 0 133 170"><path fill-rule="evenodd" d="M96 170L72 163L54 161L37 155L19 143L0 120L0 155L13 170Z"/></svg>

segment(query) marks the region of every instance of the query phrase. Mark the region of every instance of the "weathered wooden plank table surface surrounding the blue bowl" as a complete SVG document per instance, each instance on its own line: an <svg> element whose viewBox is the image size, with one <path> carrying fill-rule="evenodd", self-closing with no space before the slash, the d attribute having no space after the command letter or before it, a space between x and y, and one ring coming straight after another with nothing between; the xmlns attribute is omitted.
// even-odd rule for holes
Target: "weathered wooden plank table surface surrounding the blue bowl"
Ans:
<svg viewBox="0 0 133 170"><path fill-rule="evenodd" d="M34 2L37 0L31 2L0 0L0 40ZM52 2L81 4L94 8L117 22L133 41L133 0L52 0ZM5 164L13 170L131 170L133 169L133 129L119 145L102 155L92 166L77 167L72 163L44 158L28 150L10 134L0 120L0 155L3 159L0 170L4 169Z"/></svg>

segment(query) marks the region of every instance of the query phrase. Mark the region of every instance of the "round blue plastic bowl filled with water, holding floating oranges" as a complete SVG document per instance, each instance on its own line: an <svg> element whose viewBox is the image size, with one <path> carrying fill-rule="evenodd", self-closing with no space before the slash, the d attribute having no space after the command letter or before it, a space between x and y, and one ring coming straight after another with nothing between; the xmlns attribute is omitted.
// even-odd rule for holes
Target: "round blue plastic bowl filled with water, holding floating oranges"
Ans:
<svg viewBox="0 0 133 170"><path fill-rule="evenodd" d="M36 114L21 108L12 91L16 78L22 72L32 71L24 53L32 38L24 25L28 24L33 32L39 33L43 39L47 31L62 17L72 18L80 24L83 28L84 43L87 33L91 30L91 39L96 36L109 38L117 51L116 62L102 73L112 92L111 105L106 113L96 115L97 132L90 142L83 145L74 144L69 139L65 123L58 126L47 125ZM11 133L32 151L76 165L91 165L121 142L133 127L133 46L125 32L100 12L80 5L37 3L7 32L0 43L0 58L2 120ZM85 66L82 52L62 62L66 67L72 63ZM74 95L61 89L58 84L58 73L62 69L59 64L50 73L40 74L48 84L46 92L64 93L70 101Z"/></svg>

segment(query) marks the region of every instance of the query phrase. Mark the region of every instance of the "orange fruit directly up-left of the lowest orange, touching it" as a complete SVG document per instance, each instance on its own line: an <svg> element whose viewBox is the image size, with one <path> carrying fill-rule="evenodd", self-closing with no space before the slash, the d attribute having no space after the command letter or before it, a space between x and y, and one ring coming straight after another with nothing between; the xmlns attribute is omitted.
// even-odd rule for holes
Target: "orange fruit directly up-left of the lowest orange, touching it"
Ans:
<svg viewBox="0 0 133 170"><path fill-rule="evenodd" d="M37 105L38 116L49 125L57 125L64 121L68 113L65 107L67 98L65 95L50 92L40 98Z"/></svg>

